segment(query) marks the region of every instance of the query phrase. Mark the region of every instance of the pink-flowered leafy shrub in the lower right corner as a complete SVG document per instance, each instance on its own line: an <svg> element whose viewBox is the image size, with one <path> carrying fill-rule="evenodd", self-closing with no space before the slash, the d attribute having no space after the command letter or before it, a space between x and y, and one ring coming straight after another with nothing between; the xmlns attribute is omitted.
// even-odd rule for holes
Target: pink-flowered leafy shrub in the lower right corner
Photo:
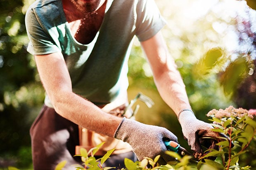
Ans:
<svg viewBox="0 0 256 170"><path fill-rule="evenodd" d="M224 141L218 143L220 150L213 150L202 158L218 156L220 161L219 167L225 170L251 168L249 165L240 167L239 157L248 151L247 148L251 142L255 142L256 121L254 116L256 116L256 110L250 109L248 111L242 108L235 109L230 106L225 110L213 109L207 116L212 118L212 125L215 127L213 131L225 134L230 140L222 138ZM232 143L235 145L234 147L231 147ZM252 156L251 154L250 156Z"/></svg>

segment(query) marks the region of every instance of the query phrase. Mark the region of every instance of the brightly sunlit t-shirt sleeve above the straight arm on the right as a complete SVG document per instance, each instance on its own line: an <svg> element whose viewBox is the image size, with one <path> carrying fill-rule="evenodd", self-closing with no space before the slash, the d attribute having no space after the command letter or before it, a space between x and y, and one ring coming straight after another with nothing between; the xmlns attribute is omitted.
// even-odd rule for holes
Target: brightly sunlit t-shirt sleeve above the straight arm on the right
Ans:
<svg viewBox="0 0 256 170"><path fill-rule="evenodd" d="M161 16L154 0L140 1L137 5L136 36L139 41L145 41L153 37L166 21Z"/></svg>

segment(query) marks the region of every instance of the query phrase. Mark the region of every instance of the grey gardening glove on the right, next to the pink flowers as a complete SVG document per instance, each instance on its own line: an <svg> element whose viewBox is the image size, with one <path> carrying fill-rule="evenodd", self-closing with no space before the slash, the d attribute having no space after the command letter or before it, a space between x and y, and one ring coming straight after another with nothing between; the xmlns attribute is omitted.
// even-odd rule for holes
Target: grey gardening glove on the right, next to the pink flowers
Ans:
<svg viewBox="0 0 256 170"><path fill-rule="evenodd" d="M198 120L192 110L183 109L178 115L178 120L182 127L185 140L191 146L191 150L195 152L195 157L200 158L203 154L207 154L203 153L202 146L206 149L218 150L218 142L225 139L229 140L224 134L213 132L211 130L213 126L209 123ZM209 157L207 159L214 160L215 157Z"/></svg>

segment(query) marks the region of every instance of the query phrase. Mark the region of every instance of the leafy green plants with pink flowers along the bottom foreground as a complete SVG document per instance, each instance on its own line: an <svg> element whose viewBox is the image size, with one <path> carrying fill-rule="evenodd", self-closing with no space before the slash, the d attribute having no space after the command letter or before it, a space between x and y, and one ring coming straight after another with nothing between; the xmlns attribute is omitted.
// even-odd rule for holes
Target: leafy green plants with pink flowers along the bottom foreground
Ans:
<svg viewBox="0 0 256 170"><path fill-rule="evenodd" d="M213 109L207 116L211 117L213 122L213 131L222 133L226 137L219 137L221 142L218 142L219 150L208 149L205 154L199 158L197 166L192 163L192 156L180 156L173 151L166 151L166 154L175 158L175 161L168 162L167 165L159 165L157 161L160 156L152 158L144 158L142 161L133 162L125 158L124 163L128 170L196 170L196 169L216 169L216 170L250 170L250 165L240 165L240 157L248 150L250 144L255 143L256 139L256 110L235 109L230 106L226 109ZM77 170L108 170L111 167L102 168L102 164L109 158L114 149L110 150L102 158L96 160L94 155L103 145L99 144L97 147L87 151L81 149L82 161L85 167L77 166ZM234 146L233 146L234 145ZM216 160L207 159L209 157L216 157ZM65 166L65 161L59 163L55 170L61 170ZM112 167L114 168L114 167ZM122 169L124 170L124 169Z"/></svg>

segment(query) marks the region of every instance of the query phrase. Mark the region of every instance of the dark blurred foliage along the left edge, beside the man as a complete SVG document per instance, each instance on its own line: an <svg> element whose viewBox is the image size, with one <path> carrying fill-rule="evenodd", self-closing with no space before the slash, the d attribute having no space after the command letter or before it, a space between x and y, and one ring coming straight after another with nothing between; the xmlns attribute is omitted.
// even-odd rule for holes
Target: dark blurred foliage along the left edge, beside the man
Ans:
<svg viewBox="0 0 256 170"><path fill-rule="evenodd" d="M0 1L0 168L31 164L29 128L45 93L33 57L26 51L28 3Z"/></svg>

